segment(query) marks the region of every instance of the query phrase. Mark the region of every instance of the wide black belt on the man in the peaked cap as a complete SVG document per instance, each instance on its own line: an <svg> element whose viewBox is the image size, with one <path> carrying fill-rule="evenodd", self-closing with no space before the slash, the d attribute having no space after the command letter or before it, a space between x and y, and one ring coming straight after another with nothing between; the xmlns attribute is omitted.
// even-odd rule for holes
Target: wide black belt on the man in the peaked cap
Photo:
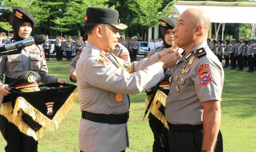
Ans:
<svg viewBox="0 0 256 152"><path fill-rule="evenodd" d="M122 124L129 119L129 111L125 114L95 114L87 111L82 111L82 118L99 123Z"/></svg>

